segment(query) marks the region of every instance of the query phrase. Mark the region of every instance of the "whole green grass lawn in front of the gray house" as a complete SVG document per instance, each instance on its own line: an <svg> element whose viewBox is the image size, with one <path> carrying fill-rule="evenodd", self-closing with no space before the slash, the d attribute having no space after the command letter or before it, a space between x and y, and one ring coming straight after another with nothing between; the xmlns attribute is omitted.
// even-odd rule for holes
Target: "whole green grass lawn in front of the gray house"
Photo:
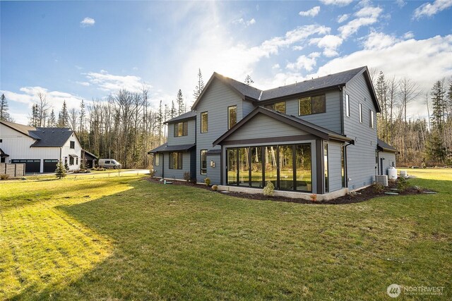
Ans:
<svg viewBox="0 0 452 301"><path fill-rule="evenodd" d="M437 195L239 199L143 177L0 182L0 300L451 300L452 170ZM410 300L436 299L407 296ZM400 299L400 297L399 297Z"/></svg>

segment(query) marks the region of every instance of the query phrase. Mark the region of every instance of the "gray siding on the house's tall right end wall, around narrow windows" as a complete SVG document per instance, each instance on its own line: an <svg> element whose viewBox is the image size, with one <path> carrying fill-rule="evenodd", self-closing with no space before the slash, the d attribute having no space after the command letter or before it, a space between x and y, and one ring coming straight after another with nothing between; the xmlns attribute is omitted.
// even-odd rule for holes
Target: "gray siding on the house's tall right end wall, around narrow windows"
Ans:
<svg viewBox="0 0 452 301"><path fill-rule="evenodd" d="M371 100L364 75L347 82L343 97L349 95L350 117L344 117L344 131L355 140L355 145L347 147L347 178L351 178L348 188L353 190L370 185L376 173L376 109ZM359 103L362 104L362 123L359 123ZM345 112L345 102L343 104ZM369 127L369 109L374 111L374 128Z"/></svg>

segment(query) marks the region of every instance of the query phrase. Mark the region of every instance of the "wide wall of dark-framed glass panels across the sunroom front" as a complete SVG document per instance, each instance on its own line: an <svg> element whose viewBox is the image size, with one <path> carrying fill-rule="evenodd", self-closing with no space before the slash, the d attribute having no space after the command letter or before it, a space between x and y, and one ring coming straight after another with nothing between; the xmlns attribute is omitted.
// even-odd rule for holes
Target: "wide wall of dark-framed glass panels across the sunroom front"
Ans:
<svg viewBox="0 0 452 301"><path fill-rule="evenodd" d="M311 143L226 149L227 185L312 192Z"/></svg>

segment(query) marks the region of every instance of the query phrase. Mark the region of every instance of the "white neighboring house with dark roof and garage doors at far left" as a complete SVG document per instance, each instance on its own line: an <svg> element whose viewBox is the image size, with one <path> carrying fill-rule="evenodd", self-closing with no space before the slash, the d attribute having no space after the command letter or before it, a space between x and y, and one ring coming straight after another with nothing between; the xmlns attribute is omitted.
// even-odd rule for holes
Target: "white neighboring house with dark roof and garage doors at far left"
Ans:
<svg viewBox="0 0 452 301"><path fill-rule="evenodd" d="M0 121L0 160L25 163L26 173L54 172L58 160L80 168L82 147L70 128L35 128Z"/></svg>

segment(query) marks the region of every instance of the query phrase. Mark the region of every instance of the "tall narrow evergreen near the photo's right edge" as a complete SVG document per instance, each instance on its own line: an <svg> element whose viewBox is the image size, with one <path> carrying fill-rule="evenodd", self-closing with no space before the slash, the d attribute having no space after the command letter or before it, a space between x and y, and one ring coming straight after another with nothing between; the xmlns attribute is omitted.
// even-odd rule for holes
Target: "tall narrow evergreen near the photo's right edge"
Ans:
<svg viewBox="0 0 452 301"><path fill-rule="evenodd" d="M443 82L438 80L432 87L432 137L430 140L429 152L434 161L444 163L446 160L447 152L444 147L444 123L446 117L446 102L444 95L446 91L443 87Z"/></svg>

